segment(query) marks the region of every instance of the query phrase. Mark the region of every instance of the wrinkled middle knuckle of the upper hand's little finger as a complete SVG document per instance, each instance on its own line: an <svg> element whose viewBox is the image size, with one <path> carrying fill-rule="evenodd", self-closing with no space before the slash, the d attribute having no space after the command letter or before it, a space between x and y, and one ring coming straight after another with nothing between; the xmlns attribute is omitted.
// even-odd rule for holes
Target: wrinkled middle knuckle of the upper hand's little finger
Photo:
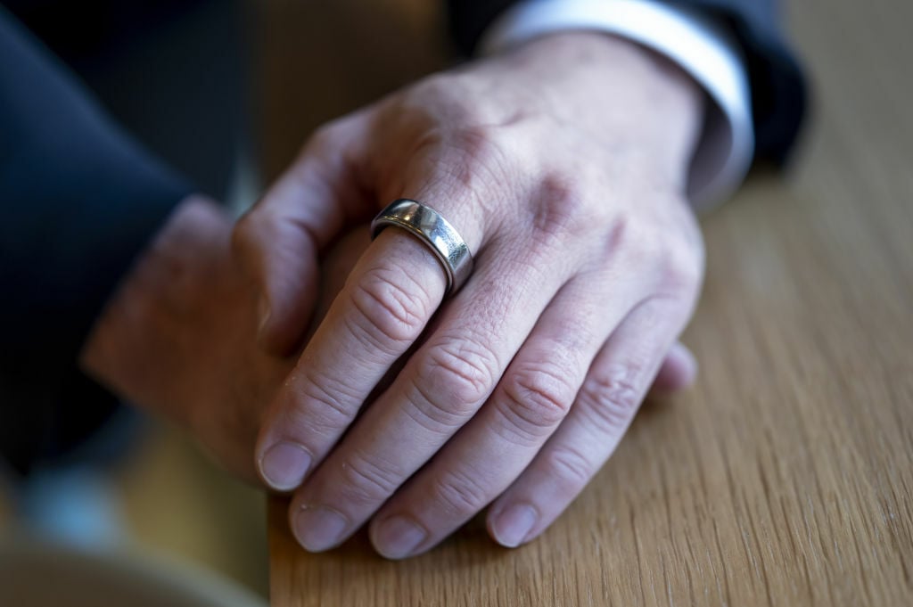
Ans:
<svg viewBox="0 0 913 607"><path fill-rule="evenodd" d="M624 433L640 406L641 388L634 378L639 365L612 365L596 372L583 384L582 396L588 401L587 410L601 431L618 435Z"/></svg>

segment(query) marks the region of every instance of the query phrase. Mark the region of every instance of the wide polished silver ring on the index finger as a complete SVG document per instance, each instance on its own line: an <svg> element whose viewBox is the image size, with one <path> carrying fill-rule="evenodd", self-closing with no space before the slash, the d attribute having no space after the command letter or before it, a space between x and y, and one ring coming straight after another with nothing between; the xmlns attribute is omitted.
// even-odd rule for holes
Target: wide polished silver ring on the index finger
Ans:
<svg viewBox="0 0 913 607"><path fill-rule="evenodd" d="M463 237L443 216L426 204L400 198L387 205L371 222L376 238L387 225L402 227L435 254L447 277L446 293L456 292L472 272L472 254Z"/></svg>

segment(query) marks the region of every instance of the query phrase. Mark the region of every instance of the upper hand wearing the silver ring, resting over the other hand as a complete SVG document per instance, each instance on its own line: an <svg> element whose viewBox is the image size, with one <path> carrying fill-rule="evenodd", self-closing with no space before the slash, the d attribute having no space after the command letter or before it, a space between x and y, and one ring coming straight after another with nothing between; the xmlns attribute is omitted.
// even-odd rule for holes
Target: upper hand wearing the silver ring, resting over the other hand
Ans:
<svg viewBox="0 0 913 607"><path fill-rule="evenodd" d="M687 380L673 344L703 268L683 194L701 112L661 58L578 33L428 78L310 141L235 235L268 351L299 343L318 252L396 198L444 215L476 267L442 305L436 258L388 228L303 351L256 452L271 487L299 487L306 549L373 517L381 553L413 555L489 503L495 539L529 541L611 455L670 349L664 381Z"/></svg>

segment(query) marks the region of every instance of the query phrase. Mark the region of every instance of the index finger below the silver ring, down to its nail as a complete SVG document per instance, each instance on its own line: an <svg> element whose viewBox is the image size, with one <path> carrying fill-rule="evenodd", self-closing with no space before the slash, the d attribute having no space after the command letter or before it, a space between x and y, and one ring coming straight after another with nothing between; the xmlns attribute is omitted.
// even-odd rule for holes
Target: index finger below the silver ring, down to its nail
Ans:
<svg viewBox="0 0 913 607"><path fill-rule="evenodd" d="M257 466L270 487L298 487L330 451L445 286L436 257L411 235L387 229L368 247L264 420Z"/></svg>

